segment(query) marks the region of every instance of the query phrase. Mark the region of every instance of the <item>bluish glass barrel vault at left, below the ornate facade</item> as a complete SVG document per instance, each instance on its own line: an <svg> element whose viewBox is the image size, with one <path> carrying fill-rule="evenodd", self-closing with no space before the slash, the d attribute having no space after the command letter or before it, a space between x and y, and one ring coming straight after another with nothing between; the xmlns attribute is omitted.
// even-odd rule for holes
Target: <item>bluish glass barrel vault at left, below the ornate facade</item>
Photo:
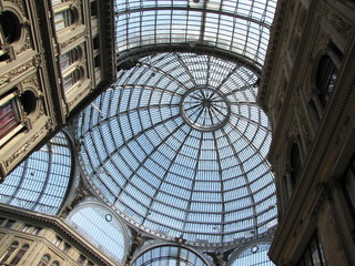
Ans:
<svg viewBox="0 0 355 266"><path fill-rule="evenodd" d="M54 215L65 196L71 167L71 147L60 132L6 178L0 202Z"/></svg>

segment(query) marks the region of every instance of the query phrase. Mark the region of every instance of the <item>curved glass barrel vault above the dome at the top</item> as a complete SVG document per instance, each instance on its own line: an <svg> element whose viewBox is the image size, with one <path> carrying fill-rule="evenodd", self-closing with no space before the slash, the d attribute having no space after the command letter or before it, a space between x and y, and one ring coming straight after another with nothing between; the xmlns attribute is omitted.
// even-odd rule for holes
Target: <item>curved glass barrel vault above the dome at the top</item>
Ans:
<svg viewBox="0 0 355 266"><path fill-rule="evenodd" d="M261 66L275 8L276 0L115 0L116 51L203 44Z"/></svg>

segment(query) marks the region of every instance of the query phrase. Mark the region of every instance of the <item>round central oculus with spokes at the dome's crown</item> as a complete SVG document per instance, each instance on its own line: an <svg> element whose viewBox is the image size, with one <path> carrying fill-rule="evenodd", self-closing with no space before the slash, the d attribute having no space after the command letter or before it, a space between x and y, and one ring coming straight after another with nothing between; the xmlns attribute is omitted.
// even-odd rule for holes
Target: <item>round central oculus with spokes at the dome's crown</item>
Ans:
<svg viewBox="0 0 355 266"><path fill-rule="evenodd" d="M194 88L181 100L182 116L192 127L200 131L215 131L230 117L231 106L227 99L213 88Z"/></svg>

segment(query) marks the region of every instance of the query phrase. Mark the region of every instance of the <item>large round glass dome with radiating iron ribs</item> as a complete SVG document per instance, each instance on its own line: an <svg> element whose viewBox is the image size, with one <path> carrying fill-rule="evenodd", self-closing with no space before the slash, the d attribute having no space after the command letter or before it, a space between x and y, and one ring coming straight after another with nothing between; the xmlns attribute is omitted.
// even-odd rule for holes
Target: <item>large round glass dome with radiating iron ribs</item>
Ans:
<svg viewBox="0 0 355 266"><path fill-rule="evenodd" d="M275 224L271 131L254 72L160 53L118 76L77 129L90 182L113 208L148 229L210 243Z"/></svg>

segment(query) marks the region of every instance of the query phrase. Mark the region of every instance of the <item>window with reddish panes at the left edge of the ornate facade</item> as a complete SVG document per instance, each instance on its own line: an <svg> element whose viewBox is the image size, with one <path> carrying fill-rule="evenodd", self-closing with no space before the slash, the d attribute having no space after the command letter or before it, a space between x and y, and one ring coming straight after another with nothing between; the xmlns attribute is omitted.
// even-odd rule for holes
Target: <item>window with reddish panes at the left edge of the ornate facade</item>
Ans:
<svg viewBox="0 0 355 266"><path fill-rule="evenodd" d="M20 122L19 109L16 99L0 104L0 139L11 132Z"/></svg>

